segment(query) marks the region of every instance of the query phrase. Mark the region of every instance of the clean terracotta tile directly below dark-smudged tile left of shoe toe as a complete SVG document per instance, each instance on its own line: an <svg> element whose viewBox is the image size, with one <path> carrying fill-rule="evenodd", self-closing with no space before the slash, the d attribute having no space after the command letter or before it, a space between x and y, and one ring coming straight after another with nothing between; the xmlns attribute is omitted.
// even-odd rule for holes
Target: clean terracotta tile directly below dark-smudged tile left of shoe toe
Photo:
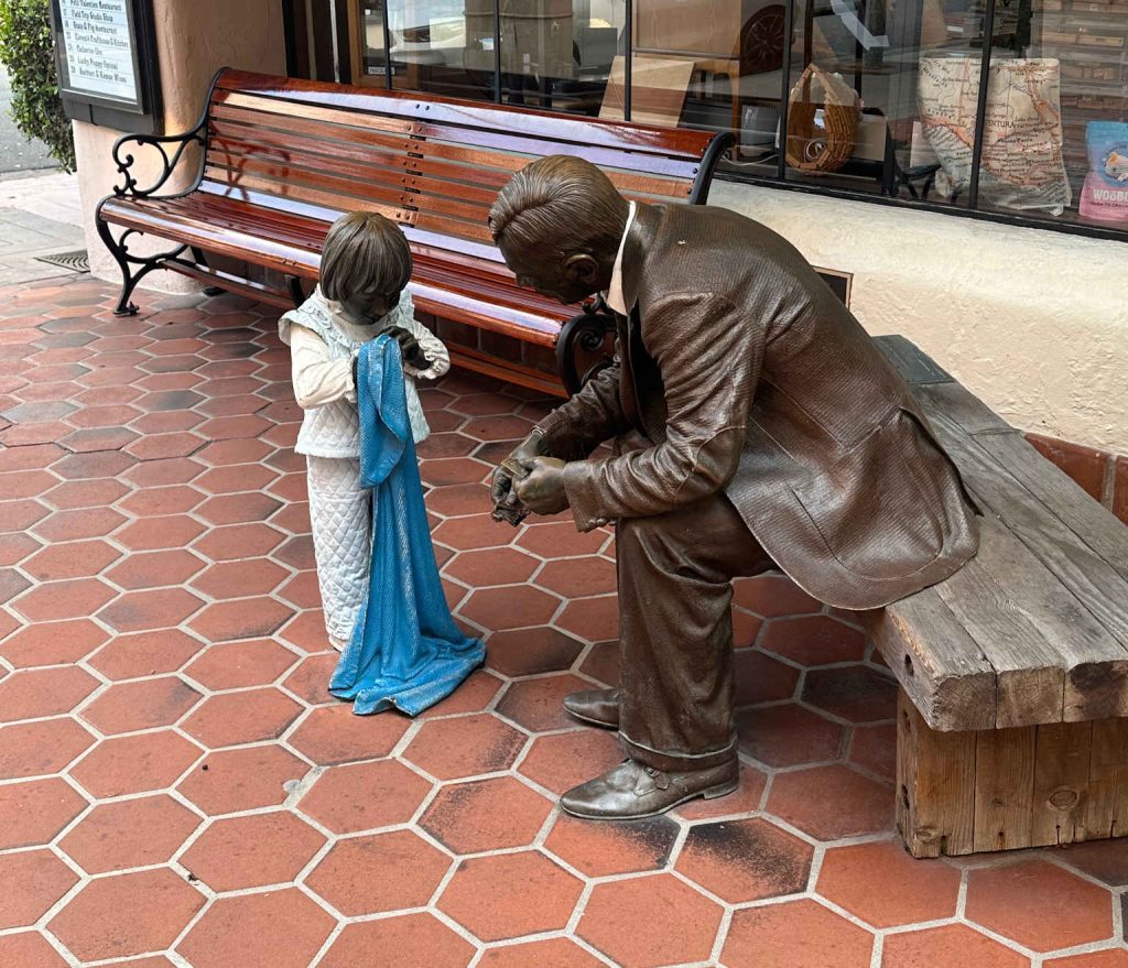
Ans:
<svg viewBox="0 0 1128 968"><path fill-rule="evenodd" d="M558 931L583 882L537 851L472 857L458 865L439 908L483 941Z"/></svg>

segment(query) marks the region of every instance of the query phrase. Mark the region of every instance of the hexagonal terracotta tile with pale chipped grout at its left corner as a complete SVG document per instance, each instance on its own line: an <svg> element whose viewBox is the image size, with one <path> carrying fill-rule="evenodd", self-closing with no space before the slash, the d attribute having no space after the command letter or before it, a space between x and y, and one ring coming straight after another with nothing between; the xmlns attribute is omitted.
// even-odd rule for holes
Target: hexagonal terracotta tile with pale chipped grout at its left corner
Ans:
<svg viewBox="0 0 1128 968"><path fill-rule="evenodd" d="M301 799L299 808L335 834L406 824L431 784L394 759L333 766Z"/></svg>

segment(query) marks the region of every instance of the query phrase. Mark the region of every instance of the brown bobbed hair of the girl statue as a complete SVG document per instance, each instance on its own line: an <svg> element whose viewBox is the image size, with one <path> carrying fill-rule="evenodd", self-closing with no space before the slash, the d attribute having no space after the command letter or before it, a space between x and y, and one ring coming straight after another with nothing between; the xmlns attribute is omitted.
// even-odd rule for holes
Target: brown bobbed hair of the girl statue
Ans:
<svg viewBox="0 0 1128 968"><path fill-rule="evenodd" d="M412 250L399 227L377 212L350 212L331 227L321 246L319 284L342 302L397 296L412 275Z"/></svg>

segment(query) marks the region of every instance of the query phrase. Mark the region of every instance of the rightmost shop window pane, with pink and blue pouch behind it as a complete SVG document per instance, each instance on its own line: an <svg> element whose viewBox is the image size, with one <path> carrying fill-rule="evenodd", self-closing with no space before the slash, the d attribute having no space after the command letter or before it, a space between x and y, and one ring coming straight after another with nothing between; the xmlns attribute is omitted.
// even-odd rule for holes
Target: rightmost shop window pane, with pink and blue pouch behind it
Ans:
<svg viewBox="0 0 1128 968"><path fill-rule="evenodd" d="M999 6L1014 52L992 67L980 208L1128 227L1128 2Z"/></svg>

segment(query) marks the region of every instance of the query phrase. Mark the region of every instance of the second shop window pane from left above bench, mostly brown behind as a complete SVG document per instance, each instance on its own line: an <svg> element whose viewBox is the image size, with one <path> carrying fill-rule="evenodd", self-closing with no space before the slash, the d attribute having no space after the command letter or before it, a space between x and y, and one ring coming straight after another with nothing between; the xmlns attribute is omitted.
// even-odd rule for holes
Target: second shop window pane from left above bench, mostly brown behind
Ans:
<svg viewBox="0 0 1128 968"><path fill-rule="evenodd" d="M600 113L626 0L500 0L499 17L505 104Z"/></svg>

